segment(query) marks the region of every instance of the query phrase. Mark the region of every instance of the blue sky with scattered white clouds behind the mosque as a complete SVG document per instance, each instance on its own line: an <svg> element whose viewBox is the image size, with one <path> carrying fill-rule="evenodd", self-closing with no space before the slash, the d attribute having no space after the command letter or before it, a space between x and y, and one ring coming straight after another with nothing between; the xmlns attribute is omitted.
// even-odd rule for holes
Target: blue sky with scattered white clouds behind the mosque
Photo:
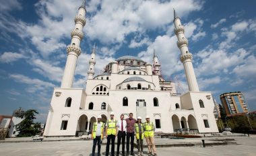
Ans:
<svg viewBox="0 0 256 156"><path fill-rule="evenodd" d="M80 0L0 0L0 114L37 109L44 122L53 88L59 87ZM82 55L73 87L84 88L96 42L96 74L127 54L152 62L156 50L166 80L187 91L172 23L174 7L185 25L201 91L220 102L224 92L241 91L256 109L255 1L93 0L87 1ZM179 82L179 83L178 83ZM179 86L179 88L178 88Z"/></svg>

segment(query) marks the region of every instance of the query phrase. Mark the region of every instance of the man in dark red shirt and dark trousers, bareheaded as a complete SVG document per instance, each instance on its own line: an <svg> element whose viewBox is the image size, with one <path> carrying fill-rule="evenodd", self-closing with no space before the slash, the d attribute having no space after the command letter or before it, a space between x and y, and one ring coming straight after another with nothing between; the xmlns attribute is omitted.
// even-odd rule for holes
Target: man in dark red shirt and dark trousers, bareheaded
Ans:
<svg viewBox="0 0 256 156"><path fill-rule="evenodd" d="M127 123L127 132L126 132L126 155L129 155L129 145L130 145L130 138L131 138L131 155L133 153L133 142L134 142L134 127L135 123L137 122L133 119L133 113L129 114L129 118L125 120Z"/></svg>

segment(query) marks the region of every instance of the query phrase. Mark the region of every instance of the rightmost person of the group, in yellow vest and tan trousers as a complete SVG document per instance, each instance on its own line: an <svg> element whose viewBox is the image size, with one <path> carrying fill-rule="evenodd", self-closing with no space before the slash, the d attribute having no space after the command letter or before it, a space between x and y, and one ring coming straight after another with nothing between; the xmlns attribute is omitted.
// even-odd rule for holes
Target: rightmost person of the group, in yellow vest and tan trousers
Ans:
<svg viewBox="0 0 256 156"><path fill-rule="evenodd" d="M154 156L156 156L156 146L154 143L154 123L150 121L150 116L146 116L146 123L144 123L144 135L148 144L148 152L149 156L154 153ZM153 153L152 153L153 149Z"/></svg>

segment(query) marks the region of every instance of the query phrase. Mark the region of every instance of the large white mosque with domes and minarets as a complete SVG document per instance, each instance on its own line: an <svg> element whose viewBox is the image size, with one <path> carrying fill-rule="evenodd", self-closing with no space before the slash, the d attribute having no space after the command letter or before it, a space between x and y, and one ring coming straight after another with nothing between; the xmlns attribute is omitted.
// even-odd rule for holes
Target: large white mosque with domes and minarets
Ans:
<svg viewBox="0 0 256 156"><path fill-rule="evenodd" d="M174 31L181 50L189 92L177 94L174 82L162 78L158 57L150 64L135 56L123 56L106 65L106 70L94 76L95 46L90 58L86 89L72 88L79 44L84 37L86 5L79 7L71 44L67 46L67 62L60 88L54 88L51 109L44 136L75 136L88 133L96 116L106 121L110 112L115 118L146 115L155 123L156 132L218 133L214 118L214 100L211 92L200 92L192 65L192 54L184 35L181 19L174 11Z"/></svg>

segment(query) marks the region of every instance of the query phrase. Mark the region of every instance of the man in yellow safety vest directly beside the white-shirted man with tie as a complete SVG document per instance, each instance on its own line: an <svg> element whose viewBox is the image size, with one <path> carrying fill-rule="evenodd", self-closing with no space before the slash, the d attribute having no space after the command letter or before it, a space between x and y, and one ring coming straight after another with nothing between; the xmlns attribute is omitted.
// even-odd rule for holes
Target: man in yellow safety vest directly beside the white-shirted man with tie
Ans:
<svg viewBox="0 0 256 156"><path fill-rule="evenodd" d="M115 138L117 137L117 120L114 119L114 112L110 113L110 119L106 121L106 156L109 153L109 145L111 141L111 156L115 156Z"/></svg>

